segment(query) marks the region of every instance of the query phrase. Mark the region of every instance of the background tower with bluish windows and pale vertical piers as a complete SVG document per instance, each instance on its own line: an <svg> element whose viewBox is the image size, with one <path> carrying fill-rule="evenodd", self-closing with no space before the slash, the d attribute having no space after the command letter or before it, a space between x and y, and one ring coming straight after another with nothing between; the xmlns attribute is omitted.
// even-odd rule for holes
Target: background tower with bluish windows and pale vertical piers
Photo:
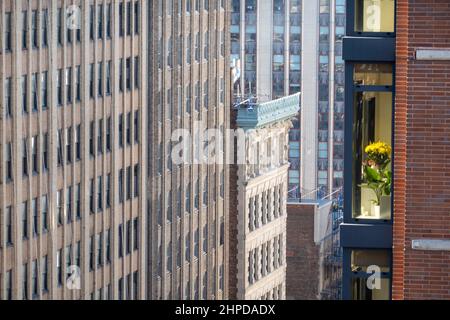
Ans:
<svg viewBox="0 0 450 320"><path fill-rule="evenodd" d="M344 0L233 0L235 96L259 101L302 92L290 131L289 198L343 186Z"/></svg>

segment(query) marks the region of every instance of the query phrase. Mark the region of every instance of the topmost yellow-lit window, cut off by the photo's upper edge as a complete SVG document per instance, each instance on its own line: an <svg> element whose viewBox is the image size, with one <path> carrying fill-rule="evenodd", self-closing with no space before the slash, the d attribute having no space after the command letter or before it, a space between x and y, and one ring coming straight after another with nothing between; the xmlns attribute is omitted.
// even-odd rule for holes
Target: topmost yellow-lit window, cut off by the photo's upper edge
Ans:
<svg viewBox="0 0 450 320"><path fill-rule="evenodd" d="M355 0L356 32L394 32L395 0Z"/></svg>

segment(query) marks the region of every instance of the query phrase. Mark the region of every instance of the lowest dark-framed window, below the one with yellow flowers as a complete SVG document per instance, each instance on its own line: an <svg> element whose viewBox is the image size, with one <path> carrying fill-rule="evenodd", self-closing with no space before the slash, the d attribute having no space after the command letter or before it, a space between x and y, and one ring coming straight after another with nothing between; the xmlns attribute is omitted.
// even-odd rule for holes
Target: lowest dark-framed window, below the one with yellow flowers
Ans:
<svg viewBox="0 0 450 320"><path fill-rule="evenodd" d="M353 300L389 300L391 287L389 250L353 250L351 252L351 293ZM380 278L369 279L375 272Z"/></svg>

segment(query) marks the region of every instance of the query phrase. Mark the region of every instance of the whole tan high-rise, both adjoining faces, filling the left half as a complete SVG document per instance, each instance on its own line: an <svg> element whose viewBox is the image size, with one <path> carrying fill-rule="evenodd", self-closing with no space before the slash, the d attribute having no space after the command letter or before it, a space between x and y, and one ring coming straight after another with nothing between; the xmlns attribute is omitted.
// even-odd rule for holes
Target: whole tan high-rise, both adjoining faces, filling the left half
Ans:
<svg viewBox="0 0 450 320"><path fill-rule="evenodd" d="M227 1L1 1L1 299L227 297Z"/></svg>

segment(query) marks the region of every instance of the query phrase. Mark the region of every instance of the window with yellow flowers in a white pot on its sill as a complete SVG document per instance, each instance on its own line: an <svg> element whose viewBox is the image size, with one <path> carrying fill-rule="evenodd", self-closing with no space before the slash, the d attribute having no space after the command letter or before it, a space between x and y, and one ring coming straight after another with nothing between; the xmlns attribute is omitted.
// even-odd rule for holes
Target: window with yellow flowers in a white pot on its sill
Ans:
<svg viewBox="0 0 450 320"><path fill-rule="evenodd" d="M392 92L355 92L353 113L353 217L390 220Z"/></svg>

